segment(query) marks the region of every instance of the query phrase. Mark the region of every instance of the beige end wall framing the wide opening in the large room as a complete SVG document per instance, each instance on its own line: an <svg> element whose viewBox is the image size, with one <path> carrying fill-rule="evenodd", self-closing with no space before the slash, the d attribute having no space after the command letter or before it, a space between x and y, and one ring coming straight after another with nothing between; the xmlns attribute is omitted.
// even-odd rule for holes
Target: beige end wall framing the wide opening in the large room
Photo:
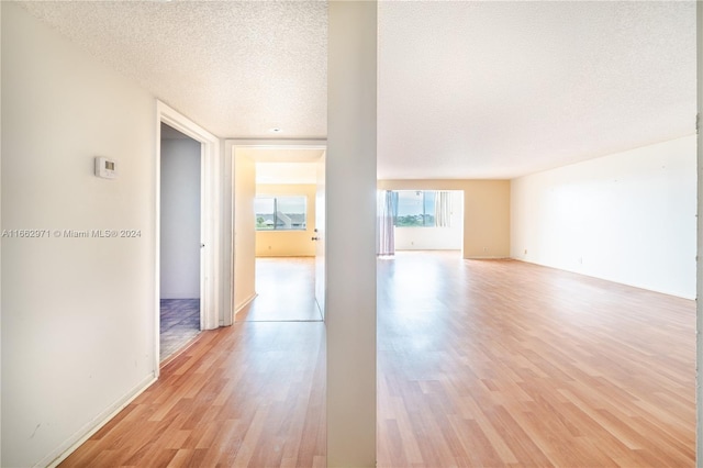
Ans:
<svg viewBox="0 0 703 468"><path fill-rule="evenodd" d="M464 258L510 256L509 180L379 180L378 188L381 190L462 190Z"/></svg>

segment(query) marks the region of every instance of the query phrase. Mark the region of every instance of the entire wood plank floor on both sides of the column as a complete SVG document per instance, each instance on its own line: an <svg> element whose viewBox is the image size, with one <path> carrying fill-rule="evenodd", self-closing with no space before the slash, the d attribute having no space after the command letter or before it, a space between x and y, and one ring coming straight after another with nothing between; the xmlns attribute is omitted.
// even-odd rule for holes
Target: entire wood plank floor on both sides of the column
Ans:
<svg viewBox="0 0 703 468"><path fill-rule="evenodd" d="M693 301L427 253L378 294L378 466L695 465ZM203 332L62 466L324 466L324 364L320 322Z"/></svg>

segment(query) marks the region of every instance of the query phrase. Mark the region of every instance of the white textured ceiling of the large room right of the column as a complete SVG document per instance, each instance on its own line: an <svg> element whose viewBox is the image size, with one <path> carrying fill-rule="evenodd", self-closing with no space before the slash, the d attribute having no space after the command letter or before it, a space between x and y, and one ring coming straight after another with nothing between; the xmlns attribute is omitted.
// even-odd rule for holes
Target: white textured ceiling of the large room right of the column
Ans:
<svg viewBox="0 0 703 468"><path fill-rule="evenodd" d="M382 177L510 178L695 132L694 2L382 2L379 18Z"/></svg>

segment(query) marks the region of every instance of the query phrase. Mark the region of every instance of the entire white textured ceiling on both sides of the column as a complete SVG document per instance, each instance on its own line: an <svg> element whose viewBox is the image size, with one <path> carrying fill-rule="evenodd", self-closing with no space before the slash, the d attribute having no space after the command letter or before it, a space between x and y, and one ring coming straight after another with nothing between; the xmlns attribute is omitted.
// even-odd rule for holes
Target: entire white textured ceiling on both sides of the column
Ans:
<svg viewBox="0 0 703 468"><path fill-rule="evenodd" d="M23 7L217 136L326 134L325 2ZM378 67L380 178L512 178L694 133L695 2L382 1Z"/></svg>

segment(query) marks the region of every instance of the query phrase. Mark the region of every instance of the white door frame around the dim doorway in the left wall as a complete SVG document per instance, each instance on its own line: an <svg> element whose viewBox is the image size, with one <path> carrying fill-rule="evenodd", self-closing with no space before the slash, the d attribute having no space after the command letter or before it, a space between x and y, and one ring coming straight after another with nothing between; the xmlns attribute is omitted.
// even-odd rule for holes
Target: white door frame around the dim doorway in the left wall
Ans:
<svg viewBox="0 0 703 468"><path fill-rule="evenodd" d="M200 143L200 330L220 326L220 140L161 101L156 101L155 155L155 375L160 367L161 123Z"/></svg>

